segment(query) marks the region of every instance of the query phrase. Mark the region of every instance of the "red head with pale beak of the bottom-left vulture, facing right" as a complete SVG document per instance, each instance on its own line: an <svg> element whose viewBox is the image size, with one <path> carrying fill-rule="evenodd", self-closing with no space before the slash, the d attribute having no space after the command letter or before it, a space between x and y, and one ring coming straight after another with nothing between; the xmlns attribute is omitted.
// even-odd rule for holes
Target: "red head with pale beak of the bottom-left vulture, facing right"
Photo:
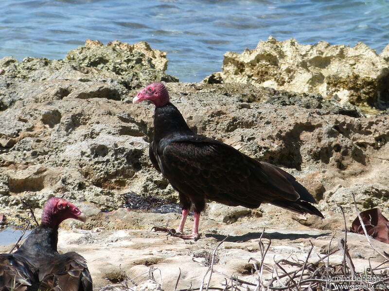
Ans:
<svg viewBox="0 0 389 291"><path fill-rule="evenodd" d="M85 214L69 201L53 197L43 207L41 226L58 228L59 224L68 218L77 219L82 222L86 222L87 220Z"/></svg>

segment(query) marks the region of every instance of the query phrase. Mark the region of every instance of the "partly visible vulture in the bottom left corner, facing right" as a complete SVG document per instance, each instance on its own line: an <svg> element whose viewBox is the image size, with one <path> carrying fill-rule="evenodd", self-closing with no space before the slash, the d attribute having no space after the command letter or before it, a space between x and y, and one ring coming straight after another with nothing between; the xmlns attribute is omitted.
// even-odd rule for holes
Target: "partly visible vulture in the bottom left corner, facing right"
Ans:
<svg viewBox="0 0 389 291"><path fill-rule="evenodd" d="M92 291L87 261L75 252L57 251L58 226L68 218L86 221L65 199L53 197L45 204L40 226L16 252L0 254L0 291Z"/></svg>

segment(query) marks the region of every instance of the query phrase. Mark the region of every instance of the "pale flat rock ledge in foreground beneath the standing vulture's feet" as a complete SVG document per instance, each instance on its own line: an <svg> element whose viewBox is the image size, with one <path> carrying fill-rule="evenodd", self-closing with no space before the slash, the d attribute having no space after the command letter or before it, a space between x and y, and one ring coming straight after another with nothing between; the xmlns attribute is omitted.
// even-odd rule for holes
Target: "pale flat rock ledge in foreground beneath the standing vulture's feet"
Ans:
<svg viewBox="0 0 389 291"><path fill-rule="evenodd" d="M330 265L342 265L343 255L337 248L337 241L344 238L343 232L320 231L308 227L277 227L266 228L263 234L262 230L254 233L252 226L257 223L258 218L251 218L245 222L220 224L219 231L228 233L230 236L219 246L213 257L214 273L212 273L210 287L223 288L225 278L230 276L256 283L258 278L256 268L261 261L259 248L261 236L265 247L270 243L264 259L266 266L262 275L264 283L275 277L274 271L272 272L272 268L276 267L275 261L278 261L285 271L296 270L298 267L283 260L303 262L312 245L308 263L320 262L320 258L324 258L330 248L335 252L329 258ZM207 231L204 234L203 239L193 243L146 230L93 232L60 229L58 248L63 252L78 252L87 259L94 288L131 279L127 283L134 285L136 290L146 288L146 285L148 288L153 287L157 290L160 290L159 288L174 290L180 277L177 286L180 290L191 286L198 288L202 282L208 283L212 254L216 245L225 236L215 239L216 236L212 237L212 234ZM356 272L363 273L370 265L376 267L384 261L368 245L363 235L348 233L347 244ZM372 244L380 252L383 252L387 246L375 240ZM0 249L8 250L2 246ZM327 262L327 259L325 261ZM279 268L278 272L282 274L283 271ZM150 278L153 282L148 281Z"/></svg>

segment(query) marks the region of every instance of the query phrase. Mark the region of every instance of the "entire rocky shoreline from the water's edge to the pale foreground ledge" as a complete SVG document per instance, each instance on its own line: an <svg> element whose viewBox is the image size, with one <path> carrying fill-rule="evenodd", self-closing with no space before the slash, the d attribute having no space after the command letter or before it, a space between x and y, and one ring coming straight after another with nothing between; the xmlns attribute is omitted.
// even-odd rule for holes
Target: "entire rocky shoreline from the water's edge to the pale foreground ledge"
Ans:
<svg viewBox="0 0 389 291"><path fill-rule="evenodd" d="M111 247L128 259L109 255L111 264L116 262L115 274L120 274L120 261L131 276L150 266L176 270L182 262L188 262L183 272L197 266L195 273L203 274L206 267L192 261L193 254L212 252L226 235L235 239L221 250L237 261L222 259L218 268L245 276L245 267L233 266L247 264L264 227L284 233L274 237L275 254L280 249L289 250L285 258L306 254L309 240L320 254L333 233L339 237L344 230L337 205L345 210L348 226L354 220L353 194L359 210L379 207L389 217L387 51L377 55L363 44L301 46L293 39L269 38L242 55L226 53L223 71L199 83L181 83L165 74L166 53L144 42L105 46L88 40L64 60L5 57L0 60L0 213L5 222L23 225L29 212L20 199L37 216L51 196L78 201L88 221L65 224L60 248L85 253L96 287L115 281L106 280L109 272L99 267ZM210 204L200 242L150 233L154 225L179 221L177 213L122 208L128 207L130 194L177 202L177 193L148 158L153 106L131 103L151 81L166 83L195 132L297 177L326 219L269 205L246 210ZM350 243L352 257L364 266L363 236L355 234ZM201 283L202 277L186 274L182 288ZM164 281L165 290L174 289L173 281Z"/></svg>

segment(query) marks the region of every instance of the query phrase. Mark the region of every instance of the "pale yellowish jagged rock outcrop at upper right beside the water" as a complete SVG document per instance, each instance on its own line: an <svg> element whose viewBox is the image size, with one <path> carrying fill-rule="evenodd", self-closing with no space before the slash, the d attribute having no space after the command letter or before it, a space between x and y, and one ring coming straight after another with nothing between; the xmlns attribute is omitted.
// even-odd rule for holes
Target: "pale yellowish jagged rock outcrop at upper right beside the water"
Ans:
<svg viewBox="0 0 389 291"><path fill-rule="evenodd" d="M326 98L336 95L342 102L385 109L389 75L385 55L385 49L378 55L363 43L354 48L324 41L300 45L293 38L279 42L270 36L242 54L226 52L223 71L204 81L252 83Z"/></svg>

